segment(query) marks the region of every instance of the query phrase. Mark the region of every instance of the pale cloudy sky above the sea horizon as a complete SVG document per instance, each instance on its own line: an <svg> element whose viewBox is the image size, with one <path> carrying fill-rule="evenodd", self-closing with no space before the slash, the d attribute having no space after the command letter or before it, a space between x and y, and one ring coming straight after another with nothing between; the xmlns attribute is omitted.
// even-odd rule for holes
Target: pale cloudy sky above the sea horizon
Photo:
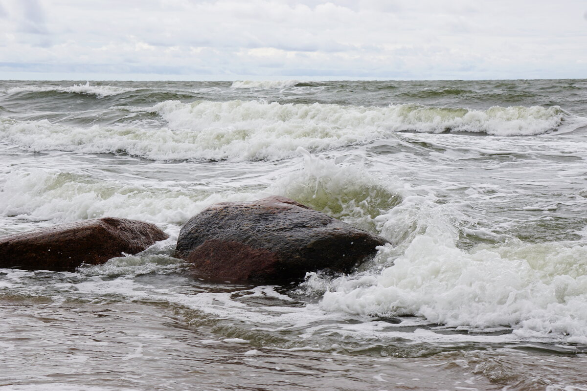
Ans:
<svg viewBox="0 0 587 391"><path fill-rule="evenodd" d="M586 0L0 0L3 80L565 78Z"/></svg>

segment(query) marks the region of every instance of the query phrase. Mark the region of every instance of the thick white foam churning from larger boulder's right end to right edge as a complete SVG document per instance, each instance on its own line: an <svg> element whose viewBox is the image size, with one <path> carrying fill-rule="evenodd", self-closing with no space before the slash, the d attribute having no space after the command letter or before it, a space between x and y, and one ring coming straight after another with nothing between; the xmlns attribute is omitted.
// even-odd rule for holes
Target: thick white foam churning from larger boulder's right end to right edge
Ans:
<svg viewBox="0 0 587 391"><path fill-rule="evenodd" d="M403 242L399 249L380 252L376 267L332 281L308 276L308 290L325 292L323 309L417 315L476 331L508 325L519 338L587 343L585 244L510 242L467 251L455 246L454 227L440 209L426 213L421 229L403 232L416 220L413 199L403 204L379 217L387 237Z"/></svg>

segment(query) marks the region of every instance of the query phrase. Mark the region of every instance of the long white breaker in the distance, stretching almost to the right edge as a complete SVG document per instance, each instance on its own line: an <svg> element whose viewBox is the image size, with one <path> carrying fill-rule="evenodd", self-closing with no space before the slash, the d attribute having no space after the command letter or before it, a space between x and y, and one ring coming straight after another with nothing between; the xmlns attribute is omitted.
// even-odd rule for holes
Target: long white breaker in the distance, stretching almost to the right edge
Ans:
<svg viewBox="0 0 587 391"><path fill-rule="evenodd" d="M305 132L309 137L352 129L369 137L384 132L481 132L492 135L535 135L555 130L570 115L558 106L499 107L487 110L397 104L387 107L338 104L279 104L266 101L164 101L151 108L172 128L262 128L265 131ZM286 131L288 132L288 131ZM364 138L360 138L364 140ZM344 144L342 144L344 145Z"/></svg>

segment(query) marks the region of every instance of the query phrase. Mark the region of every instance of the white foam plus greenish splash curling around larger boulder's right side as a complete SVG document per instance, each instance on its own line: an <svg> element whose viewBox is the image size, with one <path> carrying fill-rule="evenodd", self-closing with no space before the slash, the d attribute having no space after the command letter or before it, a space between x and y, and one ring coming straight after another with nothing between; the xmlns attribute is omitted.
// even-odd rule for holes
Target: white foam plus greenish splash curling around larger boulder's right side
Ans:
<svg viewBox="0 0 587 391"><path fill-rule="evenodd" d="M386 183L373 178L360 165L335 165L301 152L304 169L276 183L282 192L308 204L316 196L315 204L323 205L317 209L338 212L338 217L367 229L375 224L394 243L359 273L334 280L309 273L302 291L323 294L323 310L361 317L415 315L470 331L514 328L507 338L492 336L495 341L558 338L587 343L584 241L510 241L459 249L456 242L467 217L458 205L438 205L433 195L416 195L399 179ZM371 198L363 202L365 189ZM345 196L351 200L338 206Z"/></svg>

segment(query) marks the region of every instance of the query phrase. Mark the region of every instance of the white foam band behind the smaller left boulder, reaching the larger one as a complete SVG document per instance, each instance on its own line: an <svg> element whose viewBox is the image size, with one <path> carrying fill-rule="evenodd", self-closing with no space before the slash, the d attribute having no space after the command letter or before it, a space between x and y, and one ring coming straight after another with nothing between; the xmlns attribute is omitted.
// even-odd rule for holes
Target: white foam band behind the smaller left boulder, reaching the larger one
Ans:
<svg viewBox="0 0 587 391"><path fill-rule="evenodd" d="M211 203L250 197L121 184L55 169L14 169L0 181L0 215L56 222L126 217L155 223L175 235L185 220Z"/></svg>

